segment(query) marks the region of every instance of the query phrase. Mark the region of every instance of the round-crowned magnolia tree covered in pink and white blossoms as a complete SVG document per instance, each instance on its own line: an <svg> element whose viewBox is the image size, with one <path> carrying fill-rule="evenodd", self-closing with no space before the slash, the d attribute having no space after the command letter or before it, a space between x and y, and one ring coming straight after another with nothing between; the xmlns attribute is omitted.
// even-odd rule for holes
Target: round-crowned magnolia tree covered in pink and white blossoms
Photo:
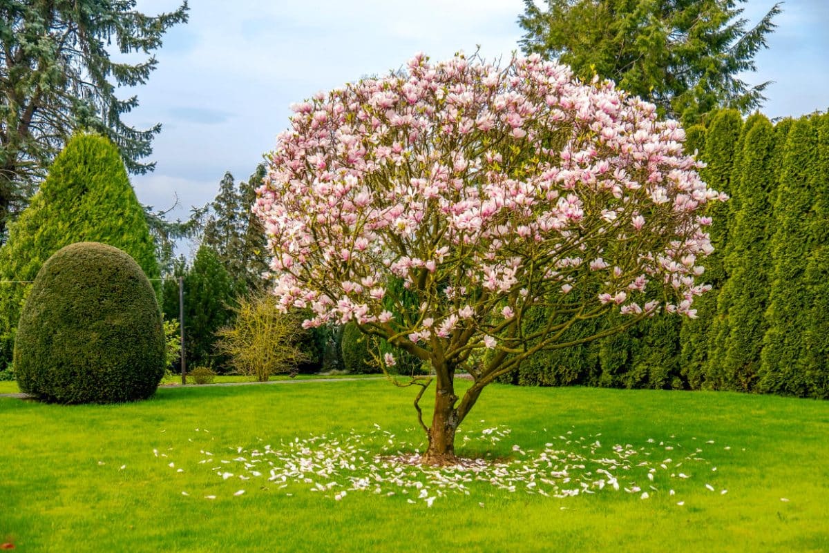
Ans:
<svg viewBox="0 0 829 553"><path fill-rule="evenodd" d="M652 104L538 56L416 55L293 106L254 206L274 293L284 310L313 311L306 326L353 320L428 363L413 381L422 460L450 463L483 388L523 359L658 310L695 315L712 251L702 211L725 198L684 137ZM539 309L545 323L524 324ZM614 310L613 325L566 338ZM461 370L473 384L458 397ZM428 425L419 400L432 382Z"/></svg>

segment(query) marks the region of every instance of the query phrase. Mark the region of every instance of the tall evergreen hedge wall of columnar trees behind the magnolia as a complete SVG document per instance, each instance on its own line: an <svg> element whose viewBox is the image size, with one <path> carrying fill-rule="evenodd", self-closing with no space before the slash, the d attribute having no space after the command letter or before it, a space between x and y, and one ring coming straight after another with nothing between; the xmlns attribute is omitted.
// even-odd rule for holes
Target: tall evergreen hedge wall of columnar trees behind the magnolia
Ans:
<svg viewBox="0 0 829 553"><path fill-rule="evenodd" d="M715 205L697 319L657 315L541 352L502 379L829 397L829 115L776 124L722 110L687 131Z"/></svg>

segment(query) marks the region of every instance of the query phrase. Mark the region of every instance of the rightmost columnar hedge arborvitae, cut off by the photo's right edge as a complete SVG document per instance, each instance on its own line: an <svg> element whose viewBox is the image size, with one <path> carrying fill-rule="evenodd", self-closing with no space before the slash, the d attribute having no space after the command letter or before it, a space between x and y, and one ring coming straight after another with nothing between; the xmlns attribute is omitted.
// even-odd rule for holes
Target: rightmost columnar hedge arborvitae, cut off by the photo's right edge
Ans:
<svg viewBox="0 0 829 553"><path fill-rule="evenodd" d="M803 334L803 375L807 394L829 397L829 115L816 119L817 167L811 235L815 247L806 266L805 282L812 297Z"/></svg>

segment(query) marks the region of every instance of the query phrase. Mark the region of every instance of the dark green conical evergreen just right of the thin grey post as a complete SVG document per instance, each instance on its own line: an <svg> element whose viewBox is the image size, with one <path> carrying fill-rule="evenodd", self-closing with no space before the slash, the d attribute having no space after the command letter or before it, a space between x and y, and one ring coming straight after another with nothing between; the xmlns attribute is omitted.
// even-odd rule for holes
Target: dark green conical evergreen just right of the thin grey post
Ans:
<svg viewBox="0 0 829 553"><path fill-rule="evenodd" d="M184 341L187 366L221 369L216 331L233 318L236 288L211 248L202 244L184 277Z"/></svg>

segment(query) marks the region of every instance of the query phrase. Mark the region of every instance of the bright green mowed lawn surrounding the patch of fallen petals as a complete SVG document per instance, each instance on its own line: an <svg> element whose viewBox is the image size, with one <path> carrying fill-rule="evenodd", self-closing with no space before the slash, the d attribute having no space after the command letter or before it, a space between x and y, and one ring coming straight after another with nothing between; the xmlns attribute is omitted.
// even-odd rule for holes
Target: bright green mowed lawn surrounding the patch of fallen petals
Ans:
<svg viewBox="0 0 829 553"><path fill-rule="evenodd" d="M414 392L363 381L161 388L116 406L0 399L0 541L19 551L829 551L827 402L493 386L464 423L462 435L511 429L467 449L458 440L460 454L492 458L514 457L514 445L543 450L559 435L675 462L702 450L704 462L681 468L691 478L660 477L647 499L609 488L544 498L474 482L432 507L371 491L335 501L309 483L211 470L237 448L375 424L417 443ZM663 452L662 440L678 446ZM199 464L208 448L214 461Z"/></svg>

